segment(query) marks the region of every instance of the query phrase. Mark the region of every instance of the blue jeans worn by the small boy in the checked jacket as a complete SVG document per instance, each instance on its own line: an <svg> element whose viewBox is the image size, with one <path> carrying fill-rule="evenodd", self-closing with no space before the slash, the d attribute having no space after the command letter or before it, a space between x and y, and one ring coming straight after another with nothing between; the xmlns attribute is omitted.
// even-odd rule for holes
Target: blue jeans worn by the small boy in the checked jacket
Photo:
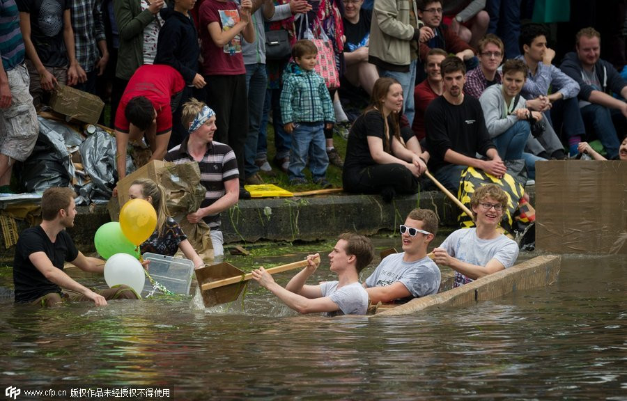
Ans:
<svg viewBox="0 0 627 401"><path fill-rule="evenodd" d="M325 178L329 157L324 133L324 123L295 123L292 132L292 151L290 152L290 180L304 178L302 171L309 156L311 179Z"/></svg>

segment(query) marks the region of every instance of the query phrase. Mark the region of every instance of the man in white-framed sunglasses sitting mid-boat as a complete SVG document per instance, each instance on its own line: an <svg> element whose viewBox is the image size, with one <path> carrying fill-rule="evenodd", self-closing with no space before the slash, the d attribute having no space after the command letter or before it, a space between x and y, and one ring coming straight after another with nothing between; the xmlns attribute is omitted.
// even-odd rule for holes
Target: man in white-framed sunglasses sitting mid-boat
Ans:
<svg viewBox="0 0 627 401"><path fill-rule="evenodd" d="M372 304L404 303L438 292L440 269L427 256L427 246L438 233L438 223L432 210L414 209L408 214L401 225L403 252L381 260L364 282Z"/></svg>

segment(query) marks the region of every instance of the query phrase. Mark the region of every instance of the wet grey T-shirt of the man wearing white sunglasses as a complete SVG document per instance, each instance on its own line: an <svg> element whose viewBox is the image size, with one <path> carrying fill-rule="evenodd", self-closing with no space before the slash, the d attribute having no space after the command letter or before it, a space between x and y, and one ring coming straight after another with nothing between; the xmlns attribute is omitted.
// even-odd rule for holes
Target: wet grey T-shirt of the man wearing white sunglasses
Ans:
<svg viewBox="0 0 627 401"><path fill-rule="evenodd" d="M442 280L438 265L428 256L415 262L405 262L403 256L405 252L393 253L381 260L366 285L382 287L400 281L415 298L436 294Z"/></svg>

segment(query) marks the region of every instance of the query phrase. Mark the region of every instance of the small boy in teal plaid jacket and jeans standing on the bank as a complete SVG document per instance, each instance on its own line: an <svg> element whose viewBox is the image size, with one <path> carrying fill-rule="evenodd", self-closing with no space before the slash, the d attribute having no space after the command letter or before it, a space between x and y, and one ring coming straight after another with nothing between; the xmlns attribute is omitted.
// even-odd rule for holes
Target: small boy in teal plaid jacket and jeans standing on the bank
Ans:
<svg viewBox="0 0 627 401"><path fill-rule="evenodd" d="M325 80L314 70L318 48L311 40L299 40L292 56L294 61L286 67L281 91L281 115L285 131L292 135L288 175L291 184L307 183L302 171L309 157L311 179L328 188L329 158L323 130L333 127L335 115Z"/></svg>

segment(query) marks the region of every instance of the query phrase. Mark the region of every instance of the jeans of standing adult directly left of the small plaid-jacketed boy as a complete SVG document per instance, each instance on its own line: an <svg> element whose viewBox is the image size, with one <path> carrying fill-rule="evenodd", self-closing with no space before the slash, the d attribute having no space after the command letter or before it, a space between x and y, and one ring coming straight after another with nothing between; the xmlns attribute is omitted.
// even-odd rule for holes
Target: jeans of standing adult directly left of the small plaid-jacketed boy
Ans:
<svg viewBox="0 0 627 401"><path fill-rule="evenodd" d="M281 105L279 98L281 89L270 89L265 91L265 102L263 103L263 114L261 115L261 127L259 127L259 137L257 139L257 159L268 157L268 115L272 111L272 127L274 127L274 147L277 149L277 159L289 157L292 138L285 132L283 121L281 120Z"/></svg>

